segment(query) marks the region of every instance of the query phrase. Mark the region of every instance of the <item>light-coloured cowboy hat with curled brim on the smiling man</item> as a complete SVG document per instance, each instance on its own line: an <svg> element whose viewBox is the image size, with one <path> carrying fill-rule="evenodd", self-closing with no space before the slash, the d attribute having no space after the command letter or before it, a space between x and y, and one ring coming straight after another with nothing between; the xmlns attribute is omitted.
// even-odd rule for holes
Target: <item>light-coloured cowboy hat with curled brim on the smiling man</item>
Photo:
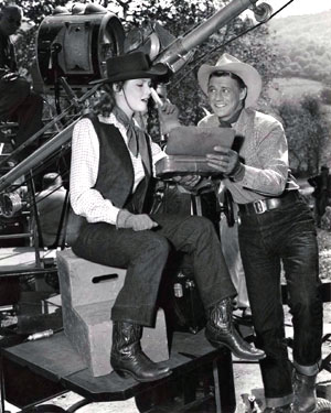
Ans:
<svg viewBox="0 0 331 413"><path fill-rule="evenodd" d="M210 77L215 72L231 72L237 75L247 87L245 107L247 108L256 104L261 90L261 78L253 66L241 62L227 53L224 53L218 58L215 66L202 65L197 72L197 81L205 95L207 95Z"/></svg>

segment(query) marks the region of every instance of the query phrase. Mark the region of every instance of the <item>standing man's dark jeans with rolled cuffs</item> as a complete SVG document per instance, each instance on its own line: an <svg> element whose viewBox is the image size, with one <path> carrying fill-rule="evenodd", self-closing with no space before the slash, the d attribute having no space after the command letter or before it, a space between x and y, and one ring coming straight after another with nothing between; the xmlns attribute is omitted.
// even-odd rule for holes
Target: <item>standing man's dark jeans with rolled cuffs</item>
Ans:
<svg viewBox="0 0 331 413"><path fill-rule="evenodd" d="M313 218L305 200L263 214L242 214L239 246L246 274L267 406L292 400L291 365L285 341L280 274L287 281L293 324L293 365L303 374L319 371L322 301L319 294L318 244Z"/></svg>

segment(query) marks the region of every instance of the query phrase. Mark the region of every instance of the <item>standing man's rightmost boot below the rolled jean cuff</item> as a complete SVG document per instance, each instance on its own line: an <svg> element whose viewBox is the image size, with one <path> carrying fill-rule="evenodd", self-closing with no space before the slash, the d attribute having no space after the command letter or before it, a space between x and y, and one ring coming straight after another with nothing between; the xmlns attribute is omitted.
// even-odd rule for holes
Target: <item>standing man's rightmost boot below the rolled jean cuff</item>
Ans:
<svg viewBox="0 0 331 413"><path fill-rule="evenodd" d="M300 374L293 371L293 412L306 413L313 412L317 405L314 376Z"/></svg>

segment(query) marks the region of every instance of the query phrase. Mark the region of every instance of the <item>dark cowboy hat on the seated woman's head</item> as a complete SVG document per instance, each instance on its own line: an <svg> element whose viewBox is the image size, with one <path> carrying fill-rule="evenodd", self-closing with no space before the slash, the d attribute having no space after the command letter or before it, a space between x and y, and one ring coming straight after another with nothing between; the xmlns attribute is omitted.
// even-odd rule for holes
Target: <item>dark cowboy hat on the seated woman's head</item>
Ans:
<svg viewBox="0 0 331 413"><path fill-rule="evenodd" d="M152 66L149 56L142 52L109 57L106 61L107 77L90 81L92 85L114 83L129 79L158 78L168 74L168 67L162 63Z"/></svg>

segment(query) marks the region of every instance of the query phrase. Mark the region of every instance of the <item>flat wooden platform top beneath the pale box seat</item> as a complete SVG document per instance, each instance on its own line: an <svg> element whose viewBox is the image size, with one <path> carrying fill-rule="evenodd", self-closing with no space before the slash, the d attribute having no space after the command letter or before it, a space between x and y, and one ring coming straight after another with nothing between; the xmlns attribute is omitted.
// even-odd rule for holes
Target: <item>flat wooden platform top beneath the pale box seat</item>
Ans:
<svg viewBox="0 0 331 413"><path fill-rule="evenodd" d="M126 400L143 390L162 384L163 380L172 380L179 374L196 369L212 361L216 355L220 356L220 350L206 341L203 332L197 335L175 334L171 358L164 362L173 369L173 374L154 383L138 383L131 378L121 379L115 372L99 378L92 377L63 333L3 349L2 354L49 380L61 381L66 389L93 401L114 401Z"/></svg>

